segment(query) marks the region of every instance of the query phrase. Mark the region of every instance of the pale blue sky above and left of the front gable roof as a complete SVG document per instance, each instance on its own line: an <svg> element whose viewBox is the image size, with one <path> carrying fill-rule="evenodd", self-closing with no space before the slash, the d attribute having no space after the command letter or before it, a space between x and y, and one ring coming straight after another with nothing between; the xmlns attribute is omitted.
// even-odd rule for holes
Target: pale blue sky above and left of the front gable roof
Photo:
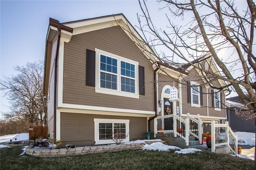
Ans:
<svg viewBox="0 0 256 170"><path fill-rule="evenodd" d="M246 3L246 1L243 1ZM148 0L151 16L161 23L158 2ZM137 13L142 14L137 0L91 1L12 1L0 0L0 63L1 77L15 75L15 65L44 60L49 18L62 22L82 20L123 13L129 22L138 26ZM164 24L164 23L162 23ZM138 30L138 29L137 29ZM1 112L6 112L8 101L1 93ZM1 114L0 114L1 117Z"/></svg>

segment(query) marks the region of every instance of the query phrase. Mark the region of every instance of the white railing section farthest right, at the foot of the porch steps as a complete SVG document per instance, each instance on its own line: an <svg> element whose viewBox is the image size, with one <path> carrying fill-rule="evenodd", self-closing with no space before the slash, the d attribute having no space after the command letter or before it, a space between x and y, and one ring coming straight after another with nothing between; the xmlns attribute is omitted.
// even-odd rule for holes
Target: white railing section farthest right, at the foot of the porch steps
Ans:
<svg viewBox="0 0 256 170"><path fill-rule="evenodd" d="M228 126L228 122L225 124L215 124L215 121L212 121L211 124L212 152L215 152L216 146L226 145L229 146L234 154L237 154L237 135Z"/></svg>

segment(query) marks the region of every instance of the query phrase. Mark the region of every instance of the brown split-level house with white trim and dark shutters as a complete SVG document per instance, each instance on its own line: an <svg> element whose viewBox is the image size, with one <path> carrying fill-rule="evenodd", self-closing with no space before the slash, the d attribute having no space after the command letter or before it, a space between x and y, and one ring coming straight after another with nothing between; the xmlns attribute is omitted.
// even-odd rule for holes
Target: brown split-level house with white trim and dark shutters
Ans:
<svg viewBox="0 0 256 170"><path fill-rule="evenodd" d="M162 63L145 44L123 14L66 23L50 18L44 70L50 138L110 144L116 134L123 142L145 139L145 132L155 136L164 115L183 119L190 113L204 128L226 119L227 91L212 88L224 82L193 87L205 82L193 78L200 71ZM200 63L218 72L211 58Z"/></svg>

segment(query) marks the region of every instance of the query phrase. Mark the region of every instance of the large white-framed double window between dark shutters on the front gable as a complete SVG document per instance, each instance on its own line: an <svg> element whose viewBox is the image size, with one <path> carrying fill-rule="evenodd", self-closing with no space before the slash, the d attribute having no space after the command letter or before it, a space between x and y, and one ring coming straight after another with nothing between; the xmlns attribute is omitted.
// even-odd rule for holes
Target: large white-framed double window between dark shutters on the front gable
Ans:
<svg viewBox="0 0 256 170"><path fill-rule="evenodd" d="M100 49L95 51L95 92L138 99L138 62Z"/></svg>

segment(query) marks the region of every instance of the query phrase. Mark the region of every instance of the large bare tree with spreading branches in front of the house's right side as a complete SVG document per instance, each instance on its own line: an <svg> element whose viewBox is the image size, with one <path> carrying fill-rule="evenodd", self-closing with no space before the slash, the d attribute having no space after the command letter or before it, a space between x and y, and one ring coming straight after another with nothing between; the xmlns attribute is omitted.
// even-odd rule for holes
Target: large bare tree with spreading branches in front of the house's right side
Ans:
<svg viewBox="0 0 256 170"><path fill-rule="evenodd" d="M192 65L203 73L198 79L204 79L211 86L214 86L214 81L225 81L224 87L213 88L233 89L252 111L248 117L255 118L256 6L253 0L243 1L246 8L238 6L235 0L158 2L159 10L165 12L165 16L151 16L144 0L139 0L142 15L138 15L139 28L156 57L184 70L187 68L184 63ZM167 26L157 28L154 19L161 19ZM215 61L219 73L204 69L200 64L206 56ZM204 85L205 81L200 85Z"/></svg>

